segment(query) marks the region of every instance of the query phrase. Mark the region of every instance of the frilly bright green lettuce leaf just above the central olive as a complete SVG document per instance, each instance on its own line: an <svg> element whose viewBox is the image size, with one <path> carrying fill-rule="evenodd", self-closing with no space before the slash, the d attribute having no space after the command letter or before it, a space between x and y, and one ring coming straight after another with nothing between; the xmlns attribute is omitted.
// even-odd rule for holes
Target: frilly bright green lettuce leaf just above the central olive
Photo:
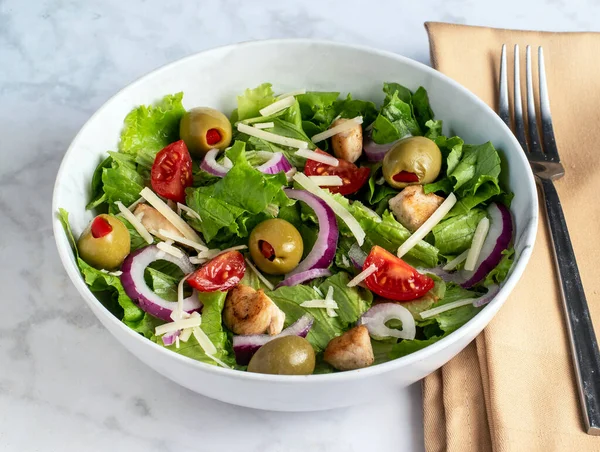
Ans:
<svg viewBox="0 0 600 452"><path fill-rule="evenodd" d="M217 183L187 190L187 205L202 221L190 220L192 227L211 242L230 243L248 236L261 221L272 218L265 212L269 204L290 205L282 187L284 173L269 175L253 168L244 155L244 143L235 142L228 151L233 168Z"/></svg>

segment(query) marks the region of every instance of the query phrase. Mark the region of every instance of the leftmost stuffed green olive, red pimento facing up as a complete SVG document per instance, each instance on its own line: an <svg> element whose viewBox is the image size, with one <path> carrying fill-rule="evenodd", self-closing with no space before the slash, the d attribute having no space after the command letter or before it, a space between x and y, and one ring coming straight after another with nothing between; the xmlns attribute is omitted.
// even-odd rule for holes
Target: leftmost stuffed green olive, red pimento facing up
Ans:
<svg viewBox="0 0 600 452"><path fill-rule="evenodd" d="M113 270L129 254L129 231L116 217L98 215L79 237L77 249L92 267Z"/></svg>

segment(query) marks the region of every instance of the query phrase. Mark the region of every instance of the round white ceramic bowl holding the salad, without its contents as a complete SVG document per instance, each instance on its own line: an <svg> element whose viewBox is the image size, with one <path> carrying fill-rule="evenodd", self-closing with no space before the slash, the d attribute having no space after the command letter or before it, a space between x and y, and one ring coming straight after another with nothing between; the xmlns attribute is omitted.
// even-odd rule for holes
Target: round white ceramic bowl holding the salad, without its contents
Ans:
<svg viewBox="0 0 600 452"><path fill-rule="evenodd" d="M311 40L274 40L221 47L158 69L124 88L102 106L69 147L56 178L53 212L70 213L78 235L92 218L85 210L90 180L107 149L117 149L125 115L140 104L183 91L184 105L235 108L236 95L272 82L278 92L298 88L351 92L383 100L384 81L410 89L424 86L436 117L469 143L491 140L501 149L504 183L515 193L517 262L497 297L475 318L439 342L374 367L329 375L274 376L223 369L172 353L141 337L115 318L86 287L58 219L54 235L63 265L77 290L106 328L137 358L171 380L208 397L252 408L311 411L342 407L390 394L441 367L471 342L494 317L529 260L537 230L537 192L518 142L482 101L441 73L408 58L364 47Z"/></svg>

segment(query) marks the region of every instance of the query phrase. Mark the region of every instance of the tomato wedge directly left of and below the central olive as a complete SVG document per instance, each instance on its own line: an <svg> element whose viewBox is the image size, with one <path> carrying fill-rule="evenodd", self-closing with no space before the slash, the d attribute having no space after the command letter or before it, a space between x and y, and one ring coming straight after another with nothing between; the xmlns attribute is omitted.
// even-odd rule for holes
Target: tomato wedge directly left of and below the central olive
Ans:
<svg viewBox="0 0 600 452"><path fill-rule="evenodd" d="M237 286L244 273L244 256L239 251L228 251L219 254L192 273L187 282L200 292L225 291Z"/></svg>

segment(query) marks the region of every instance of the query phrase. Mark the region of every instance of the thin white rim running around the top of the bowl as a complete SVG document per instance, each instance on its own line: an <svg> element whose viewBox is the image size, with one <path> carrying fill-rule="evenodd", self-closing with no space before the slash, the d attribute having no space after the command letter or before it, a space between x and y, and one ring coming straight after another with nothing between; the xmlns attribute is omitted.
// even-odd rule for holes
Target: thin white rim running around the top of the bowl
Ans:
<svg viewBox="0 0 600 452"><path fill-rule="evenodd" d="M398 369L398 368L401 368L404 366L410 366L411 364L414 364L414 363L417 363L420 361L424 361L427 358L429 358L430 356L436 354L437 352L439 352L445 348L448 348L448 347L452 346L453 344L455 344L456 342L458 342L464 335L468 334L467 333L468 331L477 329L478 325L480 325L482 322L485 322L485 325L487 325L487 323L490 322L490 320L493 318L493 316L496 314L496 312L500 309L500 307L502 306L502 304L504 303L504 301L506 300L506 298L508 297L510 292L514 289L515 285L521 278L521 276L525 270L525 267L527 266L527 263L529 262L529 259L532 254L532 249L533 249L533 245L535 242L535 238L536 238L536 234L537 234L537 226L538 226L538 196L537 196L535 180L533 177L533 173L531 171L527 172L527 180L523 181L524 182L523 190L529 191L533 198L533 201L534 201L532 203L530 211L528 212L528 214L531 217L531 220L527 223L524 230L520 234L520 236L522 237L522 240L524 240L524 242L525 242L525 247L523 248L520 256L517 257L517 261L513 264L513 267L511 269L509 276L507 277L505 282L502 284L500 291L496 294L496 296L477 315L475 315L471 320L469 320L466 324L461 326L459 329L452 332L452 334L449 334L446 337L440 339L439 341L434 342L433 344L431 344L421 350L413 352L409 355L406 355L406 356L403 356L400 358L396 358L396 359L393 359L393 360L390 360L390 361L387 361L387 362L384 362L381 364L377 364L374 366L366 367L363 369L356 369L356 370L345 371L345 372L333 372L333 373L329 373L329 374L316 374L316 375L270 375L270 374L258 374L258 373L251 373L251 372L246 372L246 371L239 371L239 370L235 370L235 369L226 369L226 368L223 368L220 366L206 364L202 361L194 360L192 358L181 355L179 353L174 353L171 350L168 350L165 347L161 347L160 345L150 341L149 339L145 338L144 336L136 333L131 328L129 328L127 325L125 325L121 320L119 320L117 317L115 317L110 311L108 311L108 309L106 307L104 307L104 305L102 305L102 303L98 300L98 298L96 298L94 296L92 291L89 290L89 288L87 287L87 285L85 284L85 282L83 280L83 277L81 276L81 273L79 272L79 269L77 268L76 262L72 260L73 251L70 248L70 245L68 244L68 240L59 239L59 237L61 237L61 236L64 237L64 229L62 227L60 220L58 219L58 209L59 209L59 207L61 207L58 205L59 184L64 176L64 173L66 172L66 166L67 166L66 162L69 159L69 156L72 153L76 152L76 149L79 146L79 141L82 139L81 137L85 134L88 127L90 127L90 125L95 121L96 117L101 114L101 112L103 112L105 109L109 108L113 102L118 100L118 98L121 96L121 94L124 91L128 90L131 87L143 84L147 79L150 79L161 72L168 71L177 65L184 64L185 62L192 60L192 59L203 58L206 55L209 55L210 53L221 53L223 51L239 49L239 48L244 48L244 47L255 47L255 46L269 47L269 46L281 46L281 45L284 45L284 46L285 45L321 45L321 46L327 46L333 50L335 50L335 49L353 50L353 51L358 51L358 52L369 53L369 54L384 57L387 59L393 59L396 61L400 61L403 64L406 64L408 66L412 66L413 68L431 76L434 79L442 80L443 82L449 84L452 87L452 89L461 91L474 104L476 104L479 107L482 107L485 110L487 110L488 112L492 113L495 117L493 120L496 121L498 127L506 132L508 141L511 142L515 148L521 149L519 142L513 135L512 131L508 128L508 126L494 112L494 110L492 110L485 102L483 102L481 99L479 99L479 97L477 97L475 94L473 94L467 88L460 85L458 82L454 81L447 75L433 69L432 67L427 66L426 64L418 62L411 58L391 52L391 51L380 50L380 49L376 49L376 48L365 46L365 45L346 44L346 43L322 40L322 39L280 38L280 39L244 41L244 42L239 42L239 43L235 43L235 44L228 44L228 45L223 45L223 46L219 46L219 47L214 47L214 48L207 49L207 50L204 50L201 52L197 52L197 53L188 55L184 58L180 58L171 63L167 63L163 66L160 66L157 69L150 71L149 73L137 78L133 82L131 82L131 83L127 84L126 86L124 86L123 88L119 89L119 91L117 91L107 101L105 101L104 104L102 104L102 106L98 110L96 110L96 112L85 122L85 124L81 127L81 129L77 133L77 135L71 141L71 144L69 145L67 151L65 152L65 154L62 158L60 167L59 167L57 175L56 175L56 180L55 180L53 195L52 195L53 233L54 233L54 240L56 243L58 254L60 256L63 267L65 268L69 278L71 279L71 282L77 288L79 294L88 303L96 304L100 308L100 310L102 310L105 313L106 320L113 323L116 328L121 328L125 332L125 334L129 335L130 337L135 337L135 339L133 339L134 341L135 340L142 341L144 344L146 344L150 348L153 348L156 351L156 353L166 354L167 357L170 357L167 359L177 360L183 365L186 365L189 367L196 367L200 371L213 373L216 376L223 376L223 377L234 378L234 379L235 378L248 379L251 381L265 381L265 382L272 382L272 383L276 383L276 382L292 383L292 382L294 382L294 383L298 383L298 384L299 383L310 384L310 383L318 383L318 382L322 382L322 381L333 383L333 382L340 382L340 381L354 381L357 379L361 379L363 377L366 378L368 376L383 374L383 373L386 373L386 372L389 372L389 371L392 371L392 370L395 370L395 369ZM520 159L521 164L529 167L529 163L525 157L525 153L519 152L517 154L518 154L517 158ZM94 313L98 316L98 314L95 311L94 311ZM484 319L487 319L487 320L484 320ZM484 328L485 328L485 326L484 326ZM462 334L459 333L461 331L462 331ZM121 341L119 341L119 342L121 342ZM126 347L126 348L128 348L128 347Z"/></svg>

